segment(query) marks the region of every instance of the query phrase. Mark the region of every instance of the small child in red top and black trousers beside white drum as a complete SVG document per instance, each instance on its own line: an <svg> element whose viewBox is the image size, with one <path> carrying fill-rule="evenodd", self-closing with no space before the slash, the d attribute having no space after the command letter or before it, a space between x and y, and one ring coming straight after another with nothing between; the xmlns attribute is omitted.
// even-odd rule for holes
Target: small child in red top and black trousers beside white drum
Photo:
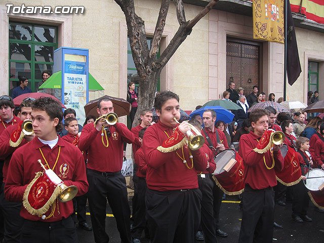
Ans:
<svg viewBox="0 0 324 243"><path fill-rule="evenodd" d="M313 165L311 156L309 157L305 151L309 150L309 139L299 137L296 141L298 148L298 160L302 171L302 180L292 186L293 191L293 220L302 223L304 221L311 222L312 219L307 216L307 209L309 204L309 196L307 194L307 188L303 185L303 181L306 180L305 174L308 172L309 166Z"/></svg>

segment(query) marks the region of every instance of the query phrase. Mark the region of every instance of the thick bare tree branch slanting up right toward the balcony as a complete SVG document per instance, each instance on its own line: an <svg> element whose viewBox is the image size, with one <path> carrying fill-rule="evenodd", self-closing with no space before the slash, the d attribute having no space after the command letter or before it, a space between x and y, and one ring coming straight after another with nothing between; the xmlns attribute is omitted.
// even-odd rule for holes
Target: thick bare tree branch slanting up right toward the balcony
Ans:
<svg viewBox="0 0 324 243"><path fill-rule="evenodd" d="M201 10L200 13L193 18L193 20L187 21L185 24L180 25L178 31L171 39L171 42L166 48L166 50L160 55L159 59L154 63L153 70L161 69L167 64L167 62L177 51L177 49L182 44L182 42L191 33L192 27L207 14L217 2L218 0L211 0L211 2L209 2L209 4L203 10Z"/></svg>

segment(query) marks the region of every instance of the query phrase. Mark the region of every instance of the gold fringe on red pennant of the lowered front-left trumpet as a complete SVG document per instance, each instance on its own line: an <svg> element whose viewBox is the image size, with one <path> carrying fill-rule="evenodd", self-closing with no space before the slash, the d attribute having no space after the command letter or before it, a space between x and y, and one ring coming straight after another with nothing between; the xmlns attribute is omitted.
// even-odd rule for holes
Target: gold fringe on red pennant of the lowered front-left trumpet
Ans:
<svg viewBox="0 0 324 243"><path fill-rule="evenodd" d="M27 186L24 195L23 195L23 205L25 209L31 214L31 215L36 215L38 217L42 217L52 206L52 204L55 202L56 198L60 195L61 193L61 188L57 186L51 195L50 199L47 201L47 203L40 209L33 209L28 201L28 194L31 189L31 186L34 184L34 182L38 179L38 177L42 176L43 172L37 172L35 178L29 183Z"/></svg>

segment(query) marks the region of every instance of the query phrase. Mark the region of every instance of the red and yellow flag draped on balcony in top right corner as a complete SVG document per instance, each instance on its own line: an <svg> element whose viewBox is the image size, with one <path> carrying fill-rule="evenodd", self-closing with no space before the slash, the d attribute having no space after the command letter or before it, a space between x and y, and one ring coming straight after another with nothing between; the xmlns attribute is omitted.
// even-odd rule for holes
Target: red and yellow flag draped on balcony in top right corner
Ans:
<svg viewBox="0 0 324 243"><path fill-rule="evenodd" d="M290 5L292 12L304 14L307 19L324 24L323 0L291 0Z"/></svg>

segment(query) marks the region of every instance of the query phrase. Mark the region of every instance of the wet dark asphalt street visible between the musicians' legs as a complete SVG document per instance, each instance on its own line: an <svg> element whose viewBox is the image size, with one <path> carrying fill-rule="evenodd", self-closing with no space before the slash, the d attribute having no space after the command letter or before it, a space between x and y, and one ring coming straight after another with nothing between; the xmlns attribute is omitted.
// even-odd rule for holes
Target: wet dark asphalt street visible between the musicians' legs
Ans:
<svg viewBox="0 0 324 243"><path fill-rule="evenodd" d="M226 196L226 201L223 202L221 207L221 223L222 230L228 233L228 237L218 237L220 243L232 243L237 242L240 222L241 211L237 203L237 196ZM227 202L229 201L229 202ZM278 243L291 243L291 242L303 242L303 243L322 243L324 242L324 214L318 213L314 210L312 203L309 204L308 216L313 219L313 222L296 223L291 218L291 205L286 207L276 206L275 209L275 221L278 224L284 225L284 229L275 229L273 234L273 242ZM107 213L111 214L109 206L107 207ZM91 224L90 216L87 216L88 223ZM106 231L109 233L109 243L120 243L119 233L116 229L116 223L113 217L106 218ZM88 243L95 242L92 231L85 231L77 229L78 242ZM149 240L142 238L142 243L148 243ZM203 241L196 241L203 242Z"/></svg>

